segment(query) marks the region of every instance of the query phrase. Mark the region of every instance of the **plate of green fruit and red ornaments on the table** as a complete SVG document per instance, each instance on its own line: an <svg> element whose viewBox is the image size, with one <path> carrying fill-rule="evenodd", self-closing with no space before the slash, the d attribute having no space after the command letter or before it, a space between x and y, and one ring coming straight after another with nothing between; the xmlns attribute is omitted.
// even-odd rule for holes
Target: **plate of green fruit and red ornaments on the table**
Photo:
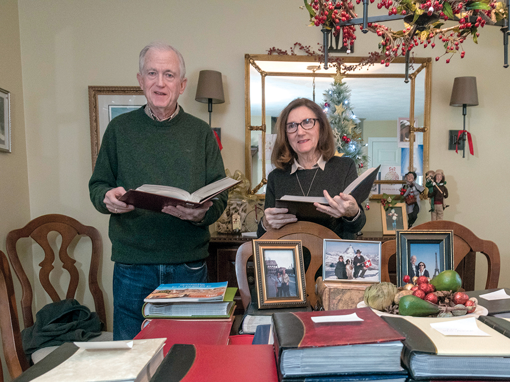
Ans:
<svg viewBox="0 0 510 382"><path fill-rule="evenodd" d="M369 286L358 307L370 307L379 315L415 317L477 317L488 313L475 297L458 292L462 280L454 270L445 270L433 279L404 276L403 281L407 284L402 288L387 282Z"/></svg>

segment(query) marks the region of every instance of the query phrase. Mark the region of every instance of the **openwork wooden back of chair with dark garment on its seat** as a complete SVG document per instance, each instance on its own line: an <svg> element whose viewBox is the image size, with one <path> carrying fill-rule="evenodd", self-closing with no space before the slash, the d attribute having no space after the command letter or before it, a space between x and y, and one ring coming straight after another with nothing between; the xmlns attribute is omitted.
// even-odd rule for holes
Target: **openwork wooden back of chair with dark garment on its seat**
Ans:
<svg viewBox="0 0 510 382"><path fill-rule="evenodd" d="M9 256L14 273L21 283L23 293L21 297L21 311L24 327L29 328L34 324L32 313L34 291L27 274L21 266L20 257L16 250L16 242L21 238L32 237L42 247L44 250L44 259L39 263L41 267L39 280L46 293L52 298L52 301L57 302L62 298L49 279L50 271L55 268L53 264L55 261L55 253L48 241L48 234L52 231L56 231L62 236L59 258L62 261L62 268L66 269L70 276L69 285L64 298L75 298L80 280L78 268L74 265L76 260L72 259L68 254L69 245L78 235L88 236L92 241L88 284L94 299L95 311L99 319L105 324L103 330L106 330L105 300L103 291L99 288L97 282L99 260L103 252L103 241L101 241L99 231L94 227L85 226L72 217L61 214L48 214L36 217L36 219L30 221L23 228L13 230L7 234L7 256Z"/></svg>

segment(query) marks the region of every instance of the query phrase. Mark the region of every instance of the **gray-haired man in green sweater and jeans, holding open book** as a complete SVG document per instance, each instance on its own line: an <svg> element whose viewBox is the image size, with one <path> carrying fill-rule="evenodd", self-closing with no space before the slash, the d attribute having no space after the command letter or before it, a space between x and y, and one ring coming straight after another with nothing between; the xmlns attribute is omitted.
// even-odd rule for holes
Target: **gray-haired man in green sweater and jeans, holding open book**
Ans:
<svg viewBox="0 0 510 382"><path fill-rule="evenodd" d="M94 207L110 214L115 340L136 336L143 299L160 284L207 282L209 225L225 209L227 192L198 208L167 206L161 212L118 200L142 184L192 193L225 177L213 130L177 103L186 89L185 70L181 53L170 45L142 49L137 79L147 104L108 124L89 181Z"/></svg>

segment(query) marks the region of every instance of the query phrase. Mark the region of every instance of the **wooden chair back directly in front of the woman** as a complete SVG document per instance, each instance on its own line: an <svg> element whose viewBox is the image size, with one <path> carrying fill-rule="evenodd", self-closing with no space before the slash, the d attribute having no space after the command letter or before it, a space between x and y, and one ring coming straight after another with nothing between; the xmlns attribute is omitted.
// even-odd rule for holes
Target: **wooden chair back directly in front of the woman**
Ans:
<svg viewBox="0 0 510 382"><path fill-rule="evenodd" d="M261 240L301 240L302 247L308 248L311 260L305 270L304 279L307 287L307 298L312 307L317 303L315 295L315 274L322 265L322 248L324 239L340 239L330 229L311 222L296 222L277 230L269 230L260 237ZM246 278L246 264L253 255L252 242L241 244L236 254L236 276L244 309L251 301L251 295Z"/></svg>

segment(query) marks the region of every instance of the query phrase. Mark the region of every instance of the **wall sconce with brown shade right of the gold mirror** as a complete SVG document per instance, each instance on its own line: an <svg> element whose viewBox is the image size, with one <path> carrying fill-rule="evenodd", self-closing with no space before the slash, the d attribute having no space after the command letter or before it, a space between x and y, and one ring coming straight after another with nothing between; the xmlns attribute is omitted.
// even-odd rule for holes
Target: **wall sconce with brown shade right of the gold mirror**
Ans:
<svg viewBox="0 0 510 382"><path fill-rule="evenodd" d="M455 77L453 80L453 89L451 91L450 106L462 106L462 115L464 116L464 129L460 130L457 135L458 140L464 141L462 148L462 157L466 152L466 137L469 144L469 152L473 154L473 141L471 134L466 131L466 114L467 106L478 105L478 92L476 90L476 77ZM462 138L461 138L462 135ZM455 150L457 152L457 150Z"/></svg>

